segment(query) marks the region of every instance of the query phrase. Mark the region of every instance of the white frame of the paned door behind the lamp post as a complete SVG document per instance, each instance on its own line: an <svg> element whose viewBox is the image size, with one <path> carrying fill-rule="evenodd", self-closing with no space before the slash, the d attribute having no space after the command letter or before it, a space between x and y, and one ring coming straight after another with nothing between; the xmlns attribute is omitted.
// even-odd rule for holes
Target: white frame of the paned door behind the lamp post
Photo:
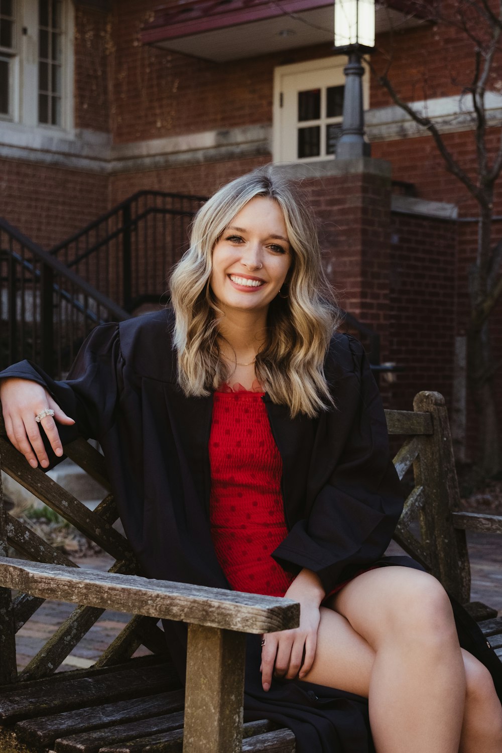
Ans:
<svg viewBox="0 0 502 753"><path fill-rule="evenodd" d="M320 80L329 80L329 86L345 85L345 76L343 69L347 64L347 57L342 55L333 55L333 57L321 58L318 60L307 60L306 62L294 62L289 66L278 66L274 70L274 91L273 91L273 129L272 129L272 160L275 163L303 163L303 162L320 162L333 158L333 154L320 154L318 157L297 157L297 93L301 88L298 81L301 78L309 78L315 81L315 75L318 74ZM363 106L367 110L370 107L370 77L367 66L364 65L363 76ZM307 77L306 77L307 75ZM325 84L321 85L324 88ZM324 95L321 97L324 102ZM321 112L321 132L324 132L325 117ZM333 122L333 118L327 118ZM341 118L340 118L341 120ZM301 123L300 127L308 127L310 121ZM324 143L324 133L321 137L321 144Z"/></svg>

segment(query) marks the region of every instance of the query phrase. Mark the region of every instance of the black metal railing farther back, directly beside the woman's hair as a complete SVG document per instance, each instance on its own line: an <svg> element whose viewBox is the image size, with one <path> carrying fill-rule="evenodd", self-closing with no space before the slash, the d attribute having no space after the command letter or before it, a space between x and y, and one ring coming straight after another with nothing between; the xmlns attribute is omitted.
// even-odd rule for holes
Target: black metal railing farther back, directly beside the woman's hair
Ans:
<svg viewBox="0 0 502 753"><path fill-rule="evenodd" d="M188 227L206 197L138 191L50 249L50 254L131 312L158 303Z"/></svg>

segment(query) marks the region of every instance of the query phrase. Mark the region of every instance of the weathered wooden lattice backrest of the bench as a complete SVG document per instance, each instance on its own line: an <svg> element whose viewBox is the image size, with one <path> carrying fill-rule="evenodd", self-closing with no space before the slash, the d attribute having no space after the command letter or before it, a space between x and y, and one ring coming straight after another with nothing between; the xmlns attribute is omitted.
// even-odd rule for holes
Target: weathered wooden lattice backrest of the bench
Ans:
<svg viewBox="0 0 502 753"><path fill-rule="evenodd" d="M395 540L440 578L453 595L466 602L470 591L469 560L464 531L455 530L453 523L459 497L446 407L443 397L436 392L420 392L413 407L413 411L386 411L389 434L406 437L394 459L397 471L401 478L407 471L413 476L412 490L406 498ZM65 446L65 454L109 489L104 459L89 443L83 439L72 442ZM111 493L90 511L40 468L29 467L5 438L3 422L0 422L0 457L2 470L114 557L112 571L135 573L135 559L129 544L112 527L118 514ZM8 546L21 558L78 567L22 521L12 517L0 495L0 554L7 556ZM22 593L13 597L10 589L0 588L0 684L52 675L103 612L85 605L75 608L18 674L15 636L42 602L43 599ZM102 652L95 666L121 663L131 657L139 645L145 645L154 653L166 653L163 633L154 617L133 616Z"/></svg>

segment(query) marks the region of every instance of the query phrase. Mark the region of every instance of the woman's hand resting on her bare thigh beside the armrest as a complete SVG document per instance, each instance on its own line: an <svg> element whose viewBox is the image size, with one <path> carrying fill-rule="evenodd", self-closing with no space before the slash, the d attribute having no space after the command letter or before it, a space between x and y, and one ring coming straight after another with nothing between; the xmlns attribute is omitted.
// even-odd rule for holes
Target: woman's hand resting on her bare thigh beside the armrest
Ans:
<svg viewBox="0 0 502 753"><path fill-rule="evenodd" d="M287 680L297 676L301 679L314 663L321 620L319 605L324 599L318 576L310 570L302 570L284 596L300 602L300 627L263 636L265 645L261 650L260 672L264 691L269 690L272 673Z"/></svg>

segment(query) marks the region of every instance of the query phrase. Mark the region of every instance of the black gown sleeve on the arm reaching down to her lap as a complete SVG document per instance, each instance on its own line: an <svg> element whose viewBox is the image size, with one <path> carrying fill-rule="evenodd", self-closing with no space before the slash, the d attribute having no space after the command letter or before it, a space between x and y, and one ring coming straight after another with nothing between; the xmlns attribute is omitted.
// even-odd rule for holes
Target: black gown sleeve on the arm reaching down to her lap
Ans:
<svg viewBox="0 0 502 753"><path fill-rule="evenodd" d="M306 567L317 573L327 593L382 557L403 511L379 389L361 343L352 337L348 343L354 362L352 392L357 392L354 410L342 403L322 417L329 446L348 413L347 438L308 516L273 553L285 569Z"/></svg>

